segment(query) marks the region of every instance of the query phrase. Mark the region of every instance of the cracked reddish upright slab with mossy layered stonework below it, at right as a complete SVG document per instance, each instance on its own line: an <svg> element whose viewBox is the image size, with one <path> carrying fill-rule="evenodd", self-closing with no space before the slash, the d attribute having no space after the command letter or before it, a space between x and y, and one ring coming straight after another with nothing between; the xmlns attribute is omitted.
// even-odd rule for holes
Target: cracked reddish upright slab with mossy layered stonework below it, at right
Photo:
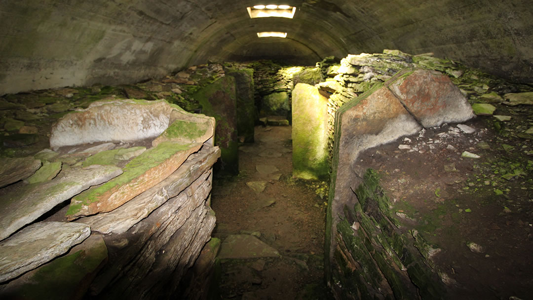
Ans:
<svg viewBox="0 0 533 300"><path fill-rule="evenodd" d="M431 267L436 250L416 233L399 231L401 222L376 172L361 173L358 156L423 128L472 117L470 104L448 76L423 69L403 69L337 110L326 269L338 298L445 297L441 274Z"/></svg>

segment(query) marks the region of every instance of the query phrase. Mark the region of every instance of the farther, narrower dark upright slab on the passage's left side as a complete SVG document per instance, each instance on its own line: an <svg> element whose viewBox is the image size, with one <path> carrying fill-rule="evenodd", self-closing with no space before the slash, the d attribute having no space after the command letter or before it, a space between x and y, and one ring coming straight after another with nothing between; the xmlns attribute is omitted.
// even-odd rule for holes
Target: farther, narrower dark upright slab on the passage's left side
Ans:
<svg viewBox="0 0 533 300"><path fill-rule="evenodd" d="M255 120L259 118L254 99L254 70L227 69L226 74L235 77L237 135L241 141L253 143Z"/></svg>

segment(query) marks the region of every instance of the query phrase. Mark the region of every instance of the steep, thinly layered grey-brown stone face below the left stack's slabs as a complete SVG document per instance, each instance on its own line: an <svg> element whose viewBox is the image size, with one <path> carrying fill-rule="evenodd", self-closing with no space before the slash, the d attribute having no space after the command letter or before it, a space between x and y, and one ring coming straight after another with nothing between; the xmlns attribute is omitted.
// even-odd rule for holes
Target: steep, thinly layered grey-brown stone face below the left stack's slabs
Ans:
<svg viewBox="0 0 533 300"><path fill-rule="evenodd" d="M174 283L180 281L180 273L192 265L215 226L214 212L205 205L211 191L211 174L202 174L125 235L104 236L108 245L115 238L123 245L119 247L127 247L95 279L94 295L99 299L140 299L139 295L158 281L166 283L171 277L177 277ZM105 289L109 282L113 283Z"/></svg>

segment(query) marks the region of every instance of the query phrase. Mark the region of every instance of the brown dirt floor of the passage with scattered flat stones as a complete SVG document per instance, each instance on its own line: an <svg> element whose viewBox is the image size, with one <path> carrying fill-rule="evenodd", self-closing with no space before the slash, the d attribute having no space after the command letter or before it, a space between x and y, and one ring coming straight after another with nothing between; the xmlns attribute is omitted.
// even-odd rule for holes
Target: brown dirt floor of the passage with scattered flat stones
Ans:
<svg viewBox="0 0 533 300"><path fill-rule="evenodd" d="M292 179L290 135L290 126L256 127L255 143L239 148L239 176L214 180L224 299L331 297L324 283L327 199L318 190L324 184Z"/></svg>

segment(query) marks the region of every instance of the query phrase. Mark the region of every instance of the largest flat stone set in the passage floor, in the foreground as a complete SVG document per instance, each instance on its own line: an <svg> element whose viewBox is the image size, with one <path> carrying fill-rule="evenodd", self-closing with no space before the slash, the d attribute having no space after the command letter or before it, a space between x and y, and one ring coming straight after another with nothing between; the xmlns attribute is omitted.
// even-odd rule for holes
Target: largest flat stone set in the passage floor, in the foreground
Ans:
<svg viewBox="0 0 533 300"><path fill-rule="evenodd" d="M278 250L248 234L232 234L224 239L219 258L279 257Z"/></svg>

